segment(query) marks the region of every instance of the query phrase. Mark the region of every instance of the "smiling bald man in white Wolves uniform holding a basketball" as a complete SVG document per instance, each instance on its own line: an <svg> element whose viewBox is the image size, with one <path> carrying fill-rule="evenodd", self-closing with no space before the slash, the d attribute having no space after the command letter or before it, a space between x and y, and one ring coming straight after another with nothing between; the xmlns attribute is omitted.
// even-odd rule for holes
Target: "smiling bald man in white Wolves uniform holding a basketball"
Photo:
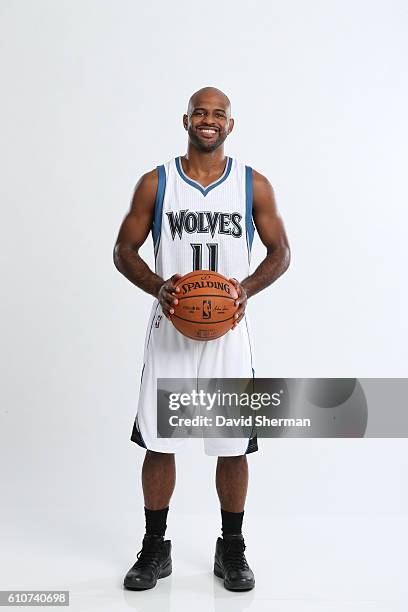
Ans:
<svg viewBox="0 0 408 612"><path fill-rule="evenodd" d="M187 155L142 176L114 252L118 270L155 298L131 436L146 449L142 468L146 534L138 560L124 581L125 588L133 590L152 588L172 571L171 542L164 535L175 485L174 454L184 440L157 437L157 378L251 378L247 300L281 276L290 261L270 183L224 155L224 141L234 127L227 96L214 87L200 89L189 100L183 124L188 132ZM267 252L249 275L253 223ZM155 272L139 255L150 231ZM238 293L231 330L209 342L184 337L171 322L178 303L176 280L199 269L227 276ZM246 455L258 450L257 438L209 438L204 445L206 454L218 457L216 488L223 537L216 543L214 573L223 578L227 589L252 589L255 579L244 555L242 521L248 485Z"/></svg>

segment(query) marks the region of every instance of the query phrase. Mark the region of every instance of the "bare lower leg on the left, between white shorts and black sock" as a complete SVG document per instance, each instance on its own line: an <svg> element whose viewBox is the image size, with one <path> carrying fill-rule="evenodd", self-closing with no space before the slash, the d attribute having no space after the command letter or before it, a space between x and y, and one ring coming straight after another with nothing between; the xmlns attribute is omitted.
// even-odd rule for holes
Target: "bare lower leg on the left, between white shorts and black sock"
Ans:
<svg viewBox="0 0 408 612"><path fill-rule="evenodd" d="M146 451L142 468L145 507L149 510L167 508L176 484L174 453Z"/></svg>

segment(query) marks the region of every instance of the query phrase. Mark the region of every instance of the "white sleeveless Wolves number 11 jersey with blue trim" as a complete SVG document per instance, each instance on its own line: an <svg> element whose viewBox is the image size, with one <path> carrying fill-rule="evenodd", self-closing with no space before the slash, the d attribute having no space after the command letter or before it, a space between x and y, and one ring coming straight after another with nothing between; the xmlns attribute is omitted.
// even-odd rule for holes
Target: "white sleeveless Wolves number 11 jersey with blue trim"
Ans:
<svg viewBox="0 0 408 612"><path fill-rule="evenodd" d="M156 274L170 278L213 270L239 281L249 275L254 235L252 168L226 158L207 187L189 178L180 157L157 167L153 223Z"/></svg>

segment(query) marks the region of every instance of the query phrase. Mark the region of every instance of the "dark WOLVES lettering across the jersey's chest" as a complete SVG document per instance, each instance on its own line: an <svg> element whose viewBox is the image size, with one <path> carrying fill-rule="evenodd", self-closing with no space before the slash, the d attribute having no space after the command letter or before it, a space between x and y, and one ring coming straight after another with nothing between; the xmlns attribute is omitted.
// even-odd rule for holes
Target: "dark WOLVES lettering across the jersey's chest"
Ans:
<svg viewBox="0 0 408 612"><path fill-rule="evenodd" d="M168 212L166 215L173 240L176 234L181 238L183 232L187 234L211 234L213 238L216 233L233 236L234 238L242 236L242 215L237 212L195 212L185 209L179 212Z"/></svg>

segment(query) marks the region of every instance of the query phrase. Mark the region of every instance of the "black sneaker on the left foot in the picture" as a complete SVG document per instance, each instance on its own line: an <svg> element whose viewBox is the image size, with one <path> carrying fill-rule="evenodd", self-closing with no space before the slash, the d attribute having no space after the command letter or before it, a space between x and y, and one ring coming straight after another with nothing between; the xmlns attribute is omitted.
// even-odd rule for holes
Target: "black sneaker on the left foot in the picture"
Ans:
<svg viewBox="0 0 408 612"><path fill-rule="evenodd" d="M123 586L131 591L152 589L159 578L170 576L171 541L163 536L145 534L137 561L125 576Z"/></svg>

